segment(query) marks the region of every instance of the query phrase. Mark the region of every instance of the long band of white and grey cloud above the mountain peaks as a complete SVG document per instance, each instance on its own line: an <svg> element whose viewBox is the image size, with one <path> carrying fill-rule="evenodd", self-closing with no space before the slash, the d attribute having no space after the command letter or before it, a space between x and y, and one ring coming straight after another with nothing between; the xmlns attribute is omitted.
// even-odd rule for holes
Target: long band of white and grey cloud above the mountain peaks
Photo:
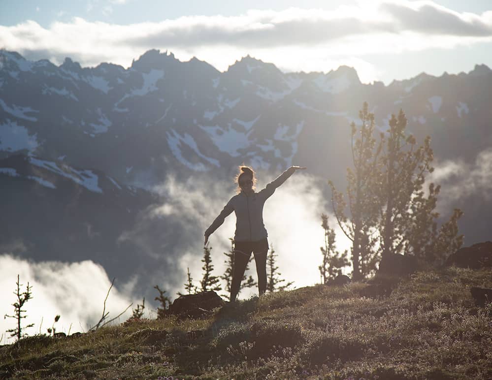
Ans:
<svg viewBox="0 0 492 380"><path fill-rule="evenodd" d="M88 4L90 11L96 3ZM183 60L197 56L220 70L247 54L286 70L328 71L336 68L330 64L362 60L365 54L491 40L492 12L458 13L431 1L361 2L334 10L249 10L238 16L186 16L131 25L76 17L49 28L34 21L0 27L0 46L30 59L61 63L70 56L82 65L105 61L128 66L146 50L157 48Z"/></svg>

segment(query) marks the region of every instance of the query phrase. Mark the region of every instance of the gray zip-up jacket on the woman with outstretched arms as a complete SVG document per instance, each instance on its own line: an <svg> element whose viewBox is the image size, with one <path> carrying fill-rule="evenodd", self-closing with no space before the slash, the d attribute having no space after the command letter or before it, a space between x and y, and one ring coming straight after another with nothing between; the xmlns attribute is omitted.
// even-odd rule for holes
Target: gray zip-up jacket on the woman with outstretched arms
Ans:
<svg viewBox="0 0 492 380"><path fill-rule="evenodd" d="M295 169L290 167L259 192L247 195L241 191L234 195L219 216L215 218L215 221L207 228L205 235L211 235L224 223L224 219L234 211L236 214L235 241L254 242L266 238L268 233L263 224L263 205L275 192L275 189L282 185L294 172Z"/></svg>

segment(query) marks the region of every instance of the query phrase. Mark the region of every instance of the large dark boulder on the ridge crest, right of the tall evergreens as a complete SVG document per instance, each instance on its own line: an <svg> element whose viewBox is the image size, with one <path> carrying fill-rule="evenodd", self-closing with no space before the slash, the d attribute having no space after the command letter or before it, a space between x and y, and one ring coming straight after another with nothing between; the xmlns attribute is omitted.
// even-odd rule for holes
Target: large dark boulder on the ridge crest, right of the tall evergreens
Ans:
<svg viewBox="0 0 492 380"><path fill-rule="evenodd" d="M452 265L470 269L491 268L492 242L487 241L460 248L446 260L446 266Z"/></svg>

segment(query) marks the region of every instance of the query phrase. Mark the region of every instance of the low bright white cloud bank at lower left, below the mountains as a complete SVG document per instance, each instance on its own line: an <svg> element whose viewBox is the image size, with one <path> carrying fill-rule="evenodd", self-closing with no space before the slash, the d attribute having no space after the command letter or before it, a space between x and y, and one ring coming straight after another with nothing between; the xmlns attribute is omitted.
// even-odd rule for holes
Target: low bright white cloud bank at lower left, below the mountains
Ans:
<svg viewBox="0 0 492 380"><path fill-rule="evenodd" d="M2 268L0 278L2 315L13 314L14 309L11 304L16 299L12 292L16 289L17 274L20 283L23 284L21 291L25 290L28 282L32 286L33 298L23 308L27 316L23 319L23 325L34 323L34 327L25 331L28 335L37 334L39 331L46 333L46 328L51 327L56 315L60 315L61 318L55 327L57 331L65 333L69 329L70 333L87 331L102 316L104 298L111 281L104 268L91 260L74 263L59 261L35 263L3 253L0 255L0 267ZM115 282L106 302L106 311L110 313L109 319L116 317L130 305L132 302L130 294L131 284ZM141 300L135 300L135 302L139 301ZM136 305L135 302L133 305ZM119 321L123 322L130 316L131 308L119 318ZM13 318L0 318L0 336L7 329L14 328L15 323ZM8 335L5 333L4 340Z"/></svg>

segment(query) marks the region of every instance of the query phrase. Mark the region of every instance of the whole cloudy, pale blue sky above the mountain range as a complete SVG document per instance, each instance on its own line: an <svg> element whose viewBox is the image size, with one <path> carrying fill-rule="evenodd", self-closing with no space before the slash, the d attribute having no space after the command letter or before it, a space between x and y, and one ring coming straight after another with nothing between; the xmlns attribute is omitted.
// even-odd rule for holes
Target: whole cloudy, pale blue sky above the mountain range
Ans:
<svg viewBox="0 0 492 380"><path fill-rule="evenodd" d="M301 5L299 5L301 4ZM149 49L221 71L246 55L281 70L355 67L363 83L492 66L488 0L0 1L0 48L30 60L131 65Z"/></svg>

